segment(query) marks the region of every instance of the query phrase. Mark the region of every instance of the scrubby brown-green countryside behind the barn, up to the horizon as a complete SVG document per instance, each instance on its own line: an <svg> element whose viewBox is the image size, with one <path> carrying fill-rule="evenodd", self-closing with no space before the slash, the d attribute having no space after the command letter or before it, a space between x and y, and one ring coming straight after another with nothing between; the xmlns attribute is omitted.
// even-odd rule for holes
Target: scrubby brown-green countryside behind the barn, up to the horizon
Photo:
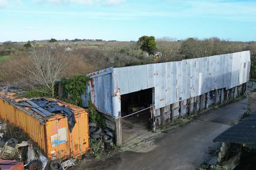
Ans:
<svg viewBox="0 0 256 170"><path fill-rule="evenodd" d="M151 37L152 38L152 37ZM150 54L141 48L139 41L103 41L90 39L58 40L57 43L43 43L29 41L26 43L5 42L0 44L0 56L10 55L11 60L0 62L0 83L13 83L21 77L14 74L19 65L28 63L26 54L29 50L38 47L50 47L64 50L67 46L72 50L68 52L70 70L67 76L74 74L86 74L107 67L121 67L141 65L148 63L181 61L188 58L205 57L219 54L251 51L251 78L256 78L256 42L227 41L219 38L197 39L188 38L177 40L175 38L157 38L154 43L152 38L150 45L154 46L154 53ZM63 44L62 44L63 42ZM86 42L86 43L83 43ZM30 45L29 45L29 44ZM67 44L68 43L68 44ZM146 45L146 44L144 44ZM20 71L21 72L21 71Z"/></svg>

